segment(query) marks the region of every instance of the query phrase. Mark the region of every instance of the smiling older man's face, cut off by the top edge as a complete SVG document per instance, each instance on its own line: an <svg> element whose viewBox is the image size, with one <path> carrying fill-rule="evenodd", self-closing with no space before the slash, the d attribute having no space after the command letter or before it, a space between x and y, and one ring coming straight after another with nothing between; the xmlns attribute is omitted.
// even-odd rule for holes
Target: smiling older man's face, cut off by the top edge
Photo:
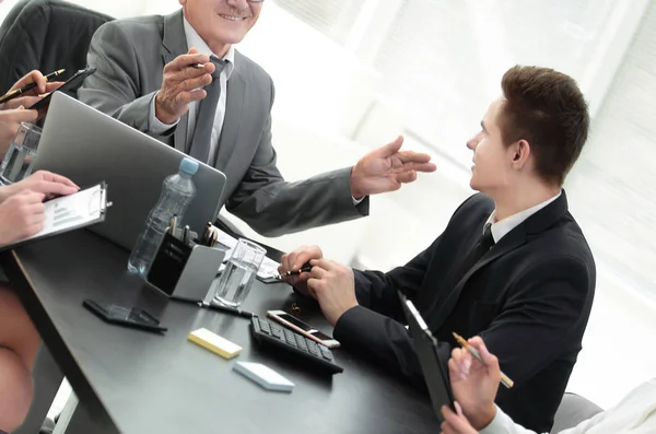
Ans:
<svg viewBox="0 0 656 434"><path fill-rule="evenodd" d="M242 42L262 9L261 2L247 0L178 1L189 24L212 49Z"/></svg>

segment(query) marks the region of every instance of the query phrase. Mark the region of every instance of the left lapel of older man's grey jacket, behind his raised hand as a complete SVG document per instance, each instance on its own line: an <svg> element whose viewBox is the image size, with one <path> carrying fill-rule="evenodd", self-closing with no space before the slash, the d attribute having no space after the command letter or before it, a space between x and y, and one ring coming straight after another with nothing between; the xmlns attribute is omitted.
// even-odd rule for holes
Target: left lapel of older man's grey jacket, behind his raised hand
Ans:
<svg viewBox="0 0 656 434"><path fill-rule="evenodd" d="M187 52L187 35L183 24L183 10L178 10L164 16L162 28L162 59L164 64L172 62L176 57ZM189 114L185 114L177 125L174 133L174 145L180 152L186 152L187 128L189 126Z"/></svg>

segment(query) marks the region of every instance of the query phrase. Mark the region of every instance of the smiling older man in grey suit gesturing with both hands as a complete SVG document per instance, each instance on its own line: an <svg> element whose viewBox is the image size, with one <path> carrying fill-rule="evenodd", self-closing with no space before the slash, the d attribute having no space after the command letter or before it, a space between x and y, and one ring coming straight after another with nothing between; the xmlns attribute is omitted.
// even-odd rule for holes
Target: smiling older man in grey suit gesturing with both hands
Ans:
<svg viewBox="0 0 656 434"><path fill-rule="evenodd" d="M94 35L84 103L203 161L227 177L227 211L277 236L368 213L368 195L397 190L430 156L402 138L353 167L286 183L271 145L273 82L234 49L262 0L178 0L166 16L118 20ZM308 157L308 164L312 159Z"/></svg>

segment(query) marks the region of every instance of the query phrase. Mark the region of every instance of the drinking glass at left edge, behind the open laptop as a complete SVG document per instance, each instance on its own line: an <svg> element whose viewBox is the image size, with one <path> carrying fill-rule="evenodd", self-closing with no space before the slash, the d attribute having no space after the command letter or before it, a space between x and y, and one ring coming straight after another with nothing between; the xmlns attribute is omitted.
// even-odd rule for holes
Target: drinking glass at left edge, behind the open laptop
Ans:
<svg viewBox="0 0 656 434"><path fill-rule="evenodd" d="M42 129L37 126L21 122L0 164L0 178L4 184L17 183L32 174L40 134Z"/></svg>

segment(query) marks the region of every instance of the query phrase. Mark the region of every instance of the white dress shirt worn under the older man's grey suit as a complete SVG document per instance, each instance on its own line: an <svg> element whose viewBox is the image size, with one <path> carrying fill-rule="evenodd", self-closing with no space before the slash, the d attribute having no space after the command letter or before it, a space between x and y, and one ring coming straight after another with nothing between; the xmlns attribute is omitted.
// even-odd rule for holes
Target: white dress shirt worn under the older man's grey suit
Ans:
<svg viewBox="0 0 656 434"><path fill-rule="evenodd" d="M196 48L198 52L201 55L214 56L220 58L215 54L212 52L210 47L206 44L204 40L200 37L200 35L191 27L191 24L184 19L185 26L185 37L187 38L187 47ZM214 157L216 155L216 149L219 146L219 138L221 137L221 130L223 128L223 119L225 118L225 98L227 94L227 80L232 74L235 68L235 49L231 45L227 49L227 52L223 57L223 60L226 60L225 68L221 71L221 75L219 75L220 85L221 85L221 94L219 96L219 105L216 106L216 114L214 115L214 127L212 128L212 139L210 142L210 156L209 161L206 162L209 165L213 166ZM156 94L155 94L156 95ZM189 118L187 126L187 143L190 143L191 138L194 137L194 131L196 130L196 119L198 118L198 105L199 102L194 102L189 104ZM151 103L150 110L150 131L155 134L162 134L166 130L171 129L171 127L175 126L175 124L166 125L160 121L155 117L155 98L153 98Z"/></svg>

